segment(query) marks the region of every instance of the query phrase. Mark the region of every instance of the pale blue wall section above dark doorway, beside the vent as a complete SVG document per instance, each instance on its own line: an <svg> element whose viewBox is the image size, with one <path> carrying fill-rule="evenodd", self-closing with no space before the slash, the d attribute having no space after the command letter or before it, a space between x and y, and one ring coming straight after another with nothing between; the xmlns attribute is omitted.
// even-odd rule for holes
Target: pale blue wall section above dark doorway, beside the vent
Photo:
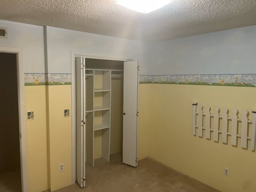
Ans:
<svg viewBox="0 0 256 192"><path fill-rule="evenodd" d="M25 73L44 73L44 30L42 26L0 20L8 28L8 39L0 38L0 46L22 48Z"/></svg>

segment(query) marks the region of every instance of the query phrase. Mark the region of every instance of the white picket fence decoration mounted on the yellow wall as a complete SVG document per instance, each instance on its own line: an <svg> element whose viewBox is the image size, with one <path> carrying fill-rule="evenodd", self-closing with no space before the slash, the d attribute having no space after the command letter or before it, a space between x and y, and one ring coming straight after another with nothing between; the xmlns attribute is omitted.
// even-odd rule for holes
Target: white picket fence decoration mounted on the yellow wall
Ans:
<svg viewBox="0 0 256 192"><path fill-rule="evenodd" d="M200 137L203 136L203 130L205 130L205 137L210 139L211 132L213 132L213 140L219 141L219 133L222 134L222 142L227 143L228 135L231 136L231 144L237 146L237 138L241 138L241 147L247 148L247 140L250 140L250 149L255 150L256 141L256 110L252 110L252 120L248 120L248 111L242 110L242 118L238 118L238 110L234 108L232 110L232 116L228 116L228 108L222 108L222 116L220 116L220 109L214 108L214 114L210 113L210 106L205 107L203 112L203 106L193 103L193 135L196 134ZM205 116L205 127L203 127L203 116ZM213 118L213 128L211 127L211 118ZM219 122L222 119L222 129L219 129ZM228 132L228 121L231 121L231 132ZM241 134L238 134L238 123L241 122ZM248 124L252 124L250 136L248 136Z"/></svg>

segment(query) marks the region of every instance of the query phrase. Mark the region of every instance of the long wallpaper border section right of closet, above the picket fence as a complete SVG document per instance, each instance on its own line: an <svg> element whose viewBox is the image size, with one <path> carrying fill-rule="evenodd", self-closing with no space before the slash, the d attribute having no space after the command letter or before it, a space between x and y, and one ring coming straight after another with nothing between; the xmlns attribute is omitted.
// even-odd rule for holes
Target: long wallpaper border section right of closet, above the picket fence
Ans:
<svg viewBox="0 0 256 192"><path fill-rule="evenodd" d="M140 84L256 87L256 74L140 75Z"/></svg>

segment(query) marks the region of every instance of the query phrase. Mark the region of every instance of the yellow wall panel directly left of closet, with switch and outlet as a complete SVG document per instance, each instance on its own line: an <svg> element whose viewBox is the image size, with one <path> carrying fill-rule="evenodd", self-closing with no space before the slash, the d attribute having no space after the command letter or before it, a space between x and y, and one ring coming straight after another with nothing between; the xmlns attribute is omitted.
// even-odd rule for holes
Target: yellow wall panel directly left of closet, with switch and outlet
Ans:
<svg viewBox="0 0 256 192"><path fill-rule="evenodd" d="M34 86L37 87L37 86ZM71 85L48 86L49 92L49 156L50 190L71 185L72 182L72 132ZM64 110L70 116L64 117ZM59 164L64 171L59 172Z"/></svg>

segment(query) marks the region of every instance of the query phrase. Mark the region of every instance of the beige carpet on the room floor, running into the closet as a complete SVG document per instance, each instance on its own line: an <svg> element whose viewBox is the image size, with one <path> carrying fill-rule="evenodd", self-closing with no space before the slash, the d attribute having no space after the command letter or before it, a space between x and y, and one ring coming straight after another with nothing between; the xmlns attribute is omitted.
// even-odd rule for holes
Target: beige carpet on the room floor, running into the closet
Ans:
<svg viewBox="0 0 256 192"><path fill-rule="evenodd" d="M180 174L146 158L134 168L122 164L122 154L110 156L110 162L95 161L95 167L86 164L86 187L78 184L56 192L218 192L201 182Z"/></svg>

